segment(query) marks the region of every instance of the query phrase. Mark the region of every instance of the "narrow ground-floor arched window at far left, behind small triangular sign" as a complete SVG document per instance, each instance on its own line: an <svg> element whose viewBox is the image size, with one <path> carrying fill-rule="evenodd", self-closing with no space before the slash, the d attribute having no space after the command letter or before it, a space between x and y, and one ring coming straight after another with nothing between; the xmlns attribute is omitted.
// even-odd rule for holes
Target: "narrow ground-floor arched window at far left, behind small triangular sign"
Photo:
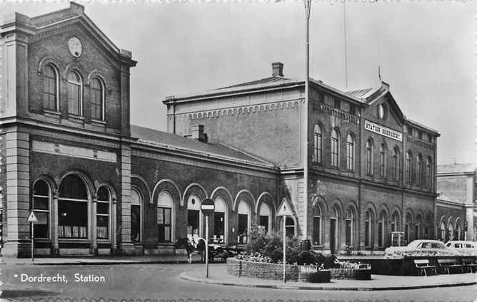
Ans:
<svg viewBox="0 0 477 302"><path fill-rule="evenodd" d="M50 212L51 190L44 180L37 180L33 187L33 209L36 219L34 227L34 238L49 238L49 212Z"/></svg>

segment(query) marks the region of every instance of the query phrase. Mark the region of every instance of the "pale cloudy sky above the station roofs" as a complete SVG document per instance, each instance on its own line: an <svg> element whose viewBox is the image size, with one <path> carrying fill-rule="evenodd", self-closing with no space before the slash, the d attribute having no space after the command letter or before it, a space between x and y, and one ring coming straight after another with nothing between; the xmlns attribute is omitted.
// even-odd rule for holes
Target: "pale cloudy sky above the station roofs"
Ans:
<svg viewBox="0 0 477 302"><path fill-rule="evenodd" d="M269 3L80 2L119 48L132 51L131 123L166 130L167 95L181 95L271 75L303 79L301 1ZM67 2L7 3L0 15L28 16ZM311 77L341 90L382 79L403 113L438 130L438 164L477 162L477 10L473 1L348 1L348 88L343 3L311 9Z"/></svg>

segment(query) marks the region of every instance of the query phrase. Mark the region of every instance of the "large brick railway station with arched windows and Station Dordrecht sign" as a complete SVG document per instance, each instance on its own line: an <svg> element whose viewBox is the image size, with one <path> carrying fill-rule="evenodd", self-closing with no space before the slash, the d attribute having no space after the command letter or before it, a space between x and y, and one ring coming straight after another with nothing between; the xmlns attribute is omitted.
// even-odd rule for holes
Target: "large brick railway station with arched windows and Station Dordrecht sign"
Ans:
<svg viewBox="0 0 477 302"><path fill-rule="evenodd" d="M304 81L273 63L266 78L166 98L161 132L130 124L134 66L73 2L0 23L4 256L29 256L31 211L36 254L172 253L204 236L205 198L224 244L283 223L324 253L378 253L391 231L436 236L439 134L406 118L387 83L311 80L306 102Z"/></svg>

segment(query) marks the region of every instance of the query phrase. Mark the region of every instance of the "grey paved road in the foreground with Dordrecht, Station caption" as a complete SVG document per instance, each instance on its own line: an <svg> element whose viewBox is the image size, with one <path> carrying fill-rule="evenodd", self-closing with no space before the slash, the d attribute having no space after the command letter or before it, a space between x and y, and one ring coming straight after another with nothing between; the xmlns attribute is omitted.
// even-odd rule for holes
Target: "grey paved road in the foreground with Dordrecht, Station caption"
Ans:
<svg viewBox="0 0 477 302"><path fill-rule="evenodd" d="M192 264L194 265L194 264ZM427 288L406 291L296 291L243 288L192 283L178 278L189 264L125 264L111 266L31 266L0 265L4 286L2 298L29 301L30 298L106 298L123 299L230 299L230 300L315 300L319 301L476 301L476 286ZM214 270L214 265L211 265ZM57 276L67 283L21 282L21 274L30 277ZM75 274L104 276L104 282L75 282ZM18 275L15 277L15 275ZM25 275L24 275L25 276ZM476 276L477 277L477 276ZM14 289L14 291L8 291ZM0 299L1 300L1 299ZM136 300L135 300L136 301ZM184 301L186 302L186 301Z"/></svg>

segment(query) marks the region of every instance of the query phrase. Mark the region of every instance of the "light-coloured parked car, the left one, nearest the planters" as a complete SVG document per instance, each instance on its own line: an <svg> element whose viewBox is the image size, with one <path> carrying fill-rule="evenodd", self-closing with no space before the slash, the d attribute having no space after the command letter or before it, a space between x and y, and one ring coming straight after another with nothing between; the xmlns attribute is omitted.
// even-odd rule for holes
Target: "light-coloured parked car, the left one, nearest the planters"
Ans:
<svg viewBox="0 0 477 302"><path fill-rule="evenodd" d="M404 256L457 256L458 251L448 249L443 242L431 239L411 241L407 246L390 246L384 250L384 257L401 259Z"/></svg>

